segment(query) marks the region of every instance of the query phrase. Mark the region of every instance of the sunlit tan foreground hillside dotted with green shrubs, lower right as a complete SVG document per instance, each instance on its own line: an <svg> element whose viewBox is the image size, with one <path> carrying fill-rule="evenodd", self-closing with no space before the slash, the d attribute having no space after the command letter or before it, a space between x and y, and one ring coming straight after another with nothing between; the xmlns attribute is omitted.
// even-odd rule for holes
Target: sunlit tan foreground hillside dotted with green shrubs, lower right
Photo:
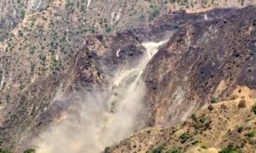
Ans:
<svg viewBox="0 0 256 153"><path fill-rule="evenodd" d="M255 97L237 89L234 100L205 105L179 126L144 129L105 152L254 152Z"/></svg>

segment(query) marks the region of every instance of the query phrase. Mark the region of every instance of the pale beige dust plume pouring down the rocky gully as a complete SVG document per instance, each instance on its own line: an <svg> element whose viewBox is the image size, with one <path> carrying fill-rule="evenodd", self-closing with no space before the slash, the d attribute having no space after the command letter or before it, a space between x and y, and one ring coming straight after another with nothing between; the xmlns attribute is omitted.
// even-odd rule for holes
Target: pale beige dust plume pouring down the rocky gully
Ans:
<svg viewBox="0 0 256 153"><path fill-rule="evenodd" d="M79 107L73 107L60 122L40 134L38 153L102 152L143 128L146 92L143 70L163 42L146 42L139 64L132 69L117 71L112 87L105 91L77 94Z"/></svg>

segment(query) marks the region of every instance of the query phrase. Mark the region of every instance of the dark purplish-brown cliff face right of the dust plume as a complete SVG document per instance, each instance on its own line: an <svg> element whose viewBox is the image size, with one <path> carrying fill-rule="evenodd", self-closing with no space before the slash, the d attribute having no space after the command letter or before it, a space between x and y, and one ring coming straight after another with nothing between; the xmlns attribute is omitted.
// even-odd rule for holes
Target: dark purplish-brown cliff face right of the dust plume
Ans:
<svg viewBox="0 0 256 153"><path fill-rule="evenodd" d="M145 71L154 125L184 121L212 98L230 99L237 85L255 89L254 18L249 7L191 21L160 48Z"/></svg>

